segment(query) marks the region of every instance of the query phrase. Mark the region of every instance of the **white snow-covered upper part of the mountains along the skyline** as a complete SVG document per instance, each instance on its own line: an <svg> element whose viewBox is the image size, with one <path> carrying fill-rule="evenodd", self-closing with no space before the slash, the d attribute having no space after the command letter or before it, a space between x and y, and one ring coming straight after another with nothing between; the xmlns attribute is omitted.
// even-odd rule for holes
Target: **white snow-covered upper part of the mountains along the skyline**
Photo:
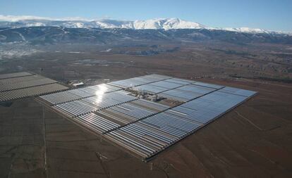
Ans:
<svg viewBox="0 0 292 178"><path fill-rule="evenodd" d="M35 16L13 16L0 15L0 27L69 27L69 28L123 28L131 30L174 30L174 29L207 29L226 30L231 32L244 33L281 33L269 30L253 29L248 27L240 28L215 28L201 25L200 23L189 22L179 18L156 18L150 20L87 20L83 18L42 18Z"/></svg>

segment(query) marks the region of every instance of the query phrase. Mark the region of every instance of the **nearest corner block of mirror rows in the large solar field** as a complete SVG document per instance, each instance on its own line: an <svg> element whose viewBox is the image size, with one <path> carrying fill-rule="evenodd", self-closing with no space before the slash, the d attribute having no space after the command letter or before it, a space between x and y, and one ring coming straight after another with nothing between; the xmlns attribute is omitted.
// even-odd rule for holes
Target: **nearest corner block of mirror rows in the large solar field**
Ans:
<svg viewBox="0 0 292 178"><path fill-rule="evenodd" d="M178 120L159 113L107 133L109 139L135 151L142 158L149 158L174 144L186 134L200 127L197 123Z"/></svg>

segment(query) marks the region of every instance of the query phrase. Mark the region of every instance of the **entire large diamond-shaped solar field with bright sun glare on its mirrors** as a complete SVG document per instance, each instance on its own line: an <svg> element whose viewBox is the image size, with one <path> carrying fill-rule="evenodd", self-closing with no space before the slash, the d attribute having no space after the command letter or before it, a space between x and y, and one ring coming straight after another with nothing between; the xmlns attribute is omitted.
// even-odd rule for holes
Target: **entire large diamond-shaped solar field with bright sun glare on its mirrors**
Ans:
<svg viewBox="0 0 292 178"><path fill-rule="evenodd" d="M150 101L138 97L141 93L179 102ZM255 94L153 74L47 94L39 101L147 161Z"/></svg>

